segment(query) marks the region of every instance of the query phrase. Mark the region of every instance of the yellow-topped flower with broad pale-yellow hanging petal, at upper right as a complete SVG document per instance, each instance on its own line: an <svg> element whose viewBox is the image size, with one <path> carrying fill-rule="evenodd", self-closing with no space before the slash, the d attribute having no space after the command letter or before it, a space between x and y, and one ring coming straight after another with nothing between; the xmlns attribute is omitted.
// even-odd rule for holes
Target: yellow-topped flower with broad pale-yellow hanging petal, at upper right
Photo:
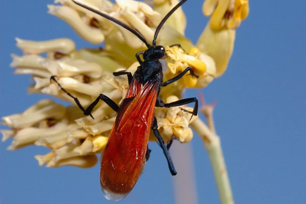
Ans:
<svg viewBox="0 0 306 204"><path fill-rule="evenodd" d="M199 37L196 47L214 59L215 77L227 69L233 53L236 28L248 16L248 0L205 0L203 13L211 19Z"/></svg>

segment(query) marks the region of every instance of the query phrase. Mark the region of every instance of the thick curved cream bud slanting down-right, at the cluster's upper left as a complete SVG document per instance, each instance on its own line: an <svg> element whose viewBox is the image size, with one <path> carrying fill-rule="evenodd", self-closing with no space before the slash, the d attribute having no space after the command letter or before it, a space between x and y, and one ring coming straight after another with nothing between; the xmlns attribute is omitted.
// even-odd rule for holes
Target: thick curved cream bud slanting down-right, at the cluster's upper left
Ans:
<svg viewBox="0 0 306 204"><path fill-rule="evenodd" d="M99 28L94 28L82 20L77 11L68 6L47 5L48 13L67 22L84 40L99 44L104 41L104 34Z"/></svg>

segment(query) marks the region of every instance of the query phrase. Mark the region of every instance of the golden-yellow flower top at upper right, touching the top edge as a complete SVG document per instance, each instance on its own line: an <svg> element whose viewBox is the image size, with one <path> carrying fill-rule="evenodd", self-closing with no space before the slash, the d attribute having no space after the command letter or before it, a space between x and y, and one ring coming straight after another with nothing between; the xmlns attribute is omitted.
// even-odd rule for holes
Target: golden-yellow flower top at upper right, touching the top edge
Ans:
<svg viewBox="0 0 306 204"><path fill-rule="evenodd" d="M248 13L248 0L206 0L203 3L203 14L211 16L213 30L236 29Z"/></svg>

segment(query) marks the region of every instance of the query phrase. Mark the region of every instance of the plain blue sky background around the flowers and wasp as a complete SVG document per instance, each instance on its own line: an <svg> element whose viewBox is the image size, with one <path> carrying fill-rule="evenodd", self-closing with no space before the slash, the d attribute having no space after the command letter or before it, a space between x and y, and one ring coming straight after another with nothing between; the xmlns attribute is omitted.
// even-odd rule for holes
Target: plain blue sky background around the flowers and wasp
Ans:
<svg viewBox="0 0 306 204"><path fill-rule="evenodd" d="M10 53L21 55L16 36L29 40L69 37L77 47L93 47L64 21L47 14L51 0L0 3L0 116L19 113L45 98L28 95L29 76L13 75ZM215 126L236 203L304 203L306 189L306 26L305 1L251 1L250 14L237 29L226 73L202 92L217 99ZM186 36L194 43L206 25L202 1L183 6ZM189 90L185 97L198 96ZM202 117L203 118L203 117ZM3 126L1 129L5 128ZM0 203L111 203L99 186L99 166L39 167L36 154L49 150L30 146L7 151L0 143ZM211 165L200 139L192 140L199 203L218 203ZM144 174L121 202L174 203L172 177L155 143ZM184 161L182 161L184 162ZM189 172L192 173L192 172Z"/></svg>

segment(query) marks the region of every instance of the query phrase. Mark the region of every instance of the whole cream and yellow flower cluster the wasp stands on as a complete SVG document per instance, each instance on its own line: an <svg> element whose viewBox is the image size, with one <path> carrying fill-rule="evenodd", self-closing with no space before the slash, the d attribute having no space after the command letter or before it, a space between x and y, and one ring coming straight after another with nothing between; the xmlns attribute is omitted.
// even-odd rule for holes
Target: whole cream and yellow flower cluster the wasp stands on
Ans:
<svg viewBox="0 0 306 204"><path fill-rule="evenodd" d="M108 1L78 0L78 2L106 13L139 31L151 41L162 17L179 1L153 0L153 7L134 0ZM135 72L139 63L136 52L144 50L144 43L121 26L86 10L71 0L55 0L58 5L48 5L48 13L67 22L84 40L104 48L76 49L73 40L60 38L31 41L16 38L22 56L12 54L15 74L30 74L35 81L28 88L30 93L44 93L70 101L64 107L52 100L41 100L21 114L2 117L10 127L0 130L2 142L13 138L9 150L26 145L41 145L51 149L46 155L36 155L39 165L58 167L72 165L89 168L98 161L96 153L103 150L114 124L116 113L104 102L99 102L92 115L84 117L75 101L63 92L50 77L77 97L87 107L100 93L117 104L121 103L128 89L127 77L114 77L112 72ZM206 87L215 77L224 73L233 51L235 28L248 14L246 0L206 0L203 13L211 16L196 45L184 36L186 18L179 8L162 27L157 44L166 47L167 70L165 80L180 74L190 66L196 76L186 75L179 81L162 88L160 97L167 103L178 100L185 87ZM181 46L171 46L180 44ZM41 54L47 53L47 57ZM187 110L187 111L186 111ZM192 108L156 108L159 131L165 142L173 137L181 142L192 139L189 124ZM154 137L150 139L155 141Z"/></svg>

